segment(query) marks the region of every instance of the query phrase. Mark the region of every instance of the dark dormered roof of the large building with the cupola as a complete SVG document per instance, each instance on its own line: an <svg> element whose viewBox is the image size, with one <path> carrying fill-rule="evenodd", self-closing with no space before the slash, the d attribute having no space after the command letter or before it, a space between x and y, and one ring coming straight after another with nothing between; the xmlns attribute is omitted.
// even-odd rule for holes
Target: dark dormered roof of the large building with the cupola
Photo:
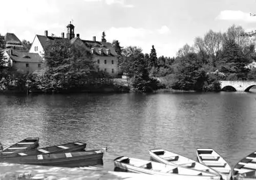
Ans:
<svg viewBox="0 0 256 180"><path fill-rule="evenodd" d="M41 36L41 35L36 35L36 37L40 41L42 48L44 48L44 50L46 49L46 46L48 45L48 43L53 43L57 39L62 39L61 37L51 37L51 36L46 37L46 36ZM67 38L65 38L65 39L67 39ZM101 56L108 56L108 54L106 53L106 49L110 50L110 56L117 56L115 49L113 48L112 44L109 42L81 40L79 37L75 37L70 40L70 43L71 44L76 43L76 45L78 45L79 41L83 42L83 44L86 45L86 47L88 49L94 48L94 55L99 56L100 55L99 48L101 48L102 49ZM83 46L83 45L80 44L80 46Z"/></svg>

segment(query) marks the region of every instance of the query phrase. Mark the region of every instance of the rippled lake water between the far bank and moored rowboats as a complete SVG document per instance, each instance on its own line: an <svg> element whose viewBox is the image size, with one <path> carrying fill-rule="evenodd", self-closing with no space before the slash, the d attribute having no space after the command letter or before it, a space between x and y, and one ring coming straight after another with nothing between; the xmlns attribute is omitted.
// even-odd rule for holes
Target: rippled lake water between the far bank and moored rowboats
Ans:
<svg viewBox="0 0 256 180"><path fill-rule="evenodd" d="M39 137L40 147L81 141L109 146L104 168L164 148L196 160L211 147L231 167L256 150L256 89L250 92L0 95L0 141Z"/></svg>

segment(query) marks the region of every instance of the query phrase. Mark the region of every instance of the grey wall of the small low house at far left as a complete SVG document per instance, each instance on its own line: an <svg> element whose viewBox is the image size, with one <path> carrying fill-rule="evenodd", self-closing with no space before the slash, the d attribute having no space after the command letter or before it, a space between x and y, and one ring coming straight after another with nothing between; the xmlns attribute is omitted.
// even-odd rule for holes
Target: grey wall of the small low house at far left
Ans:
<svg viewBox="0 0 256 180"><path fill-rule="evenodd" d="M26 64L29 66L26 67ZM41 67L38 67L38 64L41 64ZM44 69L44 64L43 63L28 63L28 62L15 62L13 63L13 67L17 69L18 72L20 73L33 73L33 72L38 72L42 69Z"/></svg>

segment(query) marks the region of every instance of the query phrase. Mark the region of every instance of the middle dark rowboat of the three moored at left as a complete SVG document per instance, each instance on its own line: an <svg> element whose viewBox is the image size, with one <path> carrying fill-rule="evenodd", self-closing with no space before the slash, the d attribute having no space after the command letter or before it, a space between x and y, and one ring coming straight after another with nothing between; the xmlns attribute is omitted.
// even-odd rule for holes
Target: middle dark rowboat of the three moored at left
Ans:
<svg viewBox="0 0 256 180"><path fill-rule="evenodd" d="M43 147L43 148L38 148L33 150L21 151L18 153L6 154L4 155L4 157L18 157L18 156L29 156L29 155L42 155L45 153L82 151L82 149L84 148L86 148L86 143L71 142L71 143L48 146L48 147Z"/></svg>

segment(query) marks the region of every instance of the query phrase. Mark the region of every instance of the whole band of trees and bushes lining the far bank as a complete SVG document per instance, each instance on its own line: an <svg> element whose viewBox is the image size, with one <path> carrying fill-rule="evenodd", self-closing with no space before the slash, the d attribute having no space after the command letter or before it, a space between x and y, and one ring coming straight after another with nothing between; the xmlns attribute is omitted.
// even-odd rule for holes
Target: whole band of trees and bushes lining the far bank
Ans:
<svg viewBox="0 0 256 180"><path fill-rule="evenodd" d="M105 36L102 34L104 41ZM209 30L203 37L196 37L193 45L185 44L173 58L157 57L154 45L150 54L143 54L140 47L121 47L114 40L118 65L127 82L123 85L97 70L89 50L60 39L48 45L47 68L39 73L18 74L12 67L3 65L5 61L0 53L0 91L152 92L164 88L219 91L219 80L256 79L254 40L241 26L231 25L224 33Z"/></svg>

